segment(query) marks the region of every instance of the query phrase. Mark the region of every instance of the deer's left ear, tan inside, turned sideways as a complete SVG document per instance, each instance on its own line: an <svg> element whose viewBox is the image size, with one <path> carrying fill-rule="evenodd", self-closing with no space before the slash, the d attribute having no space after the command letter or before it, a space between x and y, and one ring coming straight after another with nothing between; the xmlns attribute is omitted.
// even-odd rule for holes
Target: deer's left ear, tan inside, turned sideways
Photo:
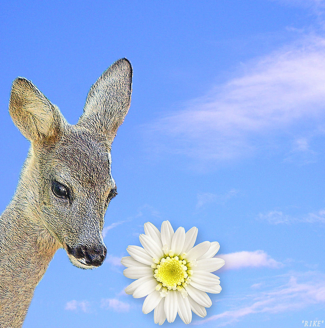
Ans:
<svg viewBox="0 0 325 328"><path fill-rule="evenodd" d="M17 77L12 83L9 113L16 127L30 141L55 138L64 124L59 109L23 77Z"/></svg>

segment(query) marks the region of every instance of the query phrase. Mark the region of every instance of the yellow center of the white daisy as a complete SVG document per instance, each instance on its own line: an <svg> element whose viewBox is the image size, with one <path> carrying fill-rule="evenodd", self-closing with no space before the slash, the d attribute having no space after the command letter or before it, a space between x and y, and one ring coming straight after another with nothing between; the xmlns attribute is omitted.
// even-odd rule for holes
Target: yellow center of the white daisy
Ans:
<svg viewBox="0 0 325 328"><path fill-rule="evenodd" d="M159 289L163 286L169 290L176 290L181 287L180 285L186 286L189 271L186 260L180 260L178 256L167 256L159 261L153 277L161 283Z"/></svg>

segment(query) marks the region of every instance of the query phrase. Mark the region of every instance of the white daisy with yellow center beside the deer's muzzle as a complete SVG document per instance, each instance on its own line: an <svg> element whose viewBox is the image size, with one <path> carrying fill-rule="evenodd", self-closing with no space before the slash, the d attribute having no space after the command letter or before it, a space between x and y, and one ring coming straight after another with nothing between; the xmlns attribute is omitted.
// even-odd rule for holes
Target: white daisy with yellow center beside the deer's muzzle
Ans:
<svg viewBox="0 0 325 328"><path fill-rule="evenodd" d="M213 257L219 243L204 241L194 246L197 228L185 233L179 227L174 233L169 221L162 223L161 232L150 222L145 223L144 231L139 237L143 248L129 246L131 256L121 260L127 267L124 276L137 279L125 292L135 298L147 296L142 311L147 314L154 309L154 322L159 325L166 318L173 322L177 313L185 323L191 322L192 311L205 317L205 308L212 305L206 292L221 291L219 277L211 273L225 264Z"/></svg>

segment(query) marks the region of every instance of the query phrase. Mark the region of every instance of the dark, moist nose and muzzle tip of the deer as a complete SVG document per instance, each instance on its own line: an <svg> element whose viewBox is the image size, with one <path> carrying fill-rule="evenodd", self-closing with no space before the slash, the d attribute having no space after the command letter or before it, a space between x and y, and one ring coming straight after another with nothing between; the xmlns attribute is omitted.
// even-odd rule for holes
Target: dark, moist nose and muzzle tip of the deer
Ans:
<svg viewBox="0 0 325 328"><path fill-rule="evenodd" d="M107 249L105 245L77 246L71 248L67 245L68 252L81 263L90 266L100 266L105 260Z"/></svg>

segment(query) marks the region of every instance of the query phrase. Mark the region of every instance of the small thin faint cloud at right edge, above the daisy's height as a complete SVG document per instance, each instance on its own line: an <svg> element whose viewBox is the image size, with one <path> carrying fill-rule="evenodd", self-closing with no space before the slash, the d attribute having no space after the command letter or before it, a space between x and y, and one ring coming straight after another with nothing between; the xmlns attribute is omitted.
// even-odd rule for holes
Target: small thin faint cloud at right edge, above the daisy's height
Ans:
<svg viewBox="0 0 325 328"><path fill-rule="evenodd" d="M305 223L325 223L325 209L321 209L314 213L308 213L300 217L293 215L284 214L282 211L270 211L268 213L259 213L257 216L260 220L265 220L270 224L279 223L295 223L295 222L305 222Z"/></svg>

